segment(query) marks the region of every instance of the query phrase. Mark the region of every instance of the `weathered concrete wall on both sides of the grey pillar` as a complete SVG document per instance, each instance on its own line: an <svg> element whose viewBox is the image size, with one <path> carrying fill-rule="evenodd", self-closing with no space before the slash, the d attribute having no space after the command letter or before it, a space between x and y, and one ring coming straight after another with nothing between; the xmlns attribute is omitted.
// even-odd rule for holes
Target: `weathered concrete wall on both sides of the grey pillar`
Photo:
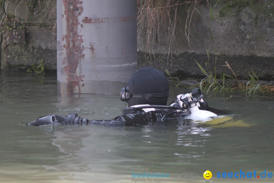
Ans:
<svg viewBox="0 0 274 183"><path fill-rule="evenodd" d="M7 2L1 24L1 69L26 70L43 59L45 69L56 71L56 39L52 31L56 20L56 0L13 0L9 5ZM33 3L34 8L30 8L28 2ZM169 41L164 31L157 35L160 42L153 42L155 56L147 54L146 37L141 36L138 40L138 67L153 66L163 72L168 69L180 77L204 77L194 59L206 67L206 62L215 64L216 54L216 69L220 72L232 75L223 66L228 61L239 78L245 79L252 68L260 79L274 80L274 15L246 7L232 9L226 16L220 17L220 2L215 7L212 21L208 5L201 8L202 16L195 13L192 17L190 43L184 35L186 9L181 7L177 14L180 21L172 54L168 54ZM266 9L273 9L272 0L262 2ZM16 34L15 41L11 41L10 28L25 30L25 39ZM210 59L207 58L206 48Z"/></svg>

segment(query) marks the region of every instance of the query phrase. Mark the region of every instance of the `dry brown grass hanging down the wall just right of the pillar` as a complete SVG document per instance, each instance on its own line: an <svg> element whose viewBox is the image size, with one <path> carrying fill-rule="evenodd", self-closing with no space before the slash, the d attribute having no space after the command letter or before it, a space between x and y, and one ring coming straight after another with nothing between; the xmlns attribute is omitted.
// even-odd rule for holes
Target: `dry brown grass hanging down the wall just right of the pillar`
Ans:
<svg viewBox="0 0 274 183"><path fill-rule="evenodd" d="M142 40L145 35L144 51L149 56L154 56L154 44L160 43L160 34L165 35L168 56L172 55L177 48L175 33L178 21L178 9L181 5L188 6L188 13L185 24L185 30L181 30L188 43L190 42L190 26L195 11L198 11L199 5L208 0L137 0L137 33L138 40ZM155 58L155 57L154 57Z"/></svg>

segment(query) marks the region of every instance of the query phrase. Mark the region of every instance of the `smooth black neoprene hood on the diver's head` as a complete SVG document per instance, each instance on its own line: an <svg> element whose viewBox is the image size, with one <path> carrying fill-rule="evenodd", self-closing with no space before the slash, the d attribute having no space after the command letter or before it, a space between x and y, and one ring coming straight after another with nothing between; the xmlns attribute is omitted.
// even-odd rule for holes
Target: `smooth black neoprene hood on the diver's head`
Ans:
<svg viewBox="0 0 274 183"><path fill-rule="evenodd" d="M166 105L169 85L167 77L160 70L144 67L129 79L128 91L131 95L129 107L139 104Z"/></svg>

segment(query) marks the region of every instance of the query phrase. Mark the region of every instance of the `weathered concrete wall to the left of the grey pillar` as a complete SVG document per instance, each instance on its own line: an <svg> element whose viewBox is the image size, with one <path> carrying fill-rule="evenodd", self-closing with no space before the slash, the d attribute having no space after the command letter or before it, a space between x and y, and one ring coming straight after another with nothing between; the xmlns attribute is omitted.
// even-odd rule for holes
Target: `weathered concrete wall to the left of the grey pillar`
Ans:
<svg viewBox="0 0 274 183"><path fill-rule="evenodd" d="M45 69L56 70L56 1L5 1L4 8L1 69L26 70L43 60Z"/></svg>

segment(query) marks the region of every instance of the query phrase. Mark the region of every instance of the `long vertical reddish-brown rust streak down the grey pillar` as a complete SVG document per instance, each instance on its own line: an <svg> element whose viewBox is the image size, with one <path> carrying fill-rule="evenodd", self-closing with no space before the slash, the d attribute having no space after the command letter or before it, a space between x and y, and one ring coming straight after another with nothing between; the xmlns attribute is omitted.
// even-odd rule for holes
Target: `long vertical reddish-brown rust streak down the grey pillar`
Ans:
<svg viewBox="0 0 274 183"><path fill-rule="evenodd" d="M62 0L66 15L66 34L63 35L63 40L65 40L65 45L63 47L66 50L66 55L62 61L64 65L64 72L66 74L67 80L67 91L68 93L73 93L78 88L79 93L81 93L81 87L84 87L82 74L81 60L85 57L83 54L84 46L83 35L78 34L78 17L83 12L82 1L80 0ZM78 71L78 72L77 72Z"/></svg>

